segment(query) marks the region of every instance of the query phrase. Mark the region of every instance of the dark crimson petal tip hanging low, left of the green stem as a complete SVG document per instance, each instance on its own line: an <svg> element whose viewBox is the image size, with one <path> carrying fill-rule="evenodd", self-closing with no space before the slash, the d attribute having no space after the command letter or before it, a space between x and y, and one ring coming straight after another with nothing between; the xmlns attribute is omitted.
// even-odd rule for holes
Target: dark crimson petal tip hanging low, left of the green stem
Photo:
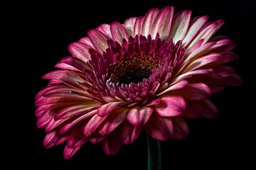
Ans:
<svg viewBox="0 0 256 170"><path fill-rule="evenodd" d="M121 149L122 141L118 138L117 133L108 135L102 140L102 147L107 155L114 155Z"/></svg>

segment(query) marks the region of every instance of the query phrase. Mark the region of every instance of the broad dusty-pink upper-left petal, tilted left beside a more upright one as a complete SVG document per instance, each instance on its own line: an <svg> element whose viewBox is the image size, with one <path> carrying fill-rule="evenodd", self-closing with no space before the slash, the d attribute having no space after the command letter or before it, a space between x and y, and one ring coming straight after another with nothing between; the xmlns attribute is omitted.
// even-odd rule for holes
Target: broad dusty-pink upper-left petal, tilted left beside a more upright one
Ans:
<svg viewBox="0 0 256 170"><path fill-rule="evenodd" d="M95 49L102 54L107 49L107 35L99 30L89 30L87 34Z"/></svg>

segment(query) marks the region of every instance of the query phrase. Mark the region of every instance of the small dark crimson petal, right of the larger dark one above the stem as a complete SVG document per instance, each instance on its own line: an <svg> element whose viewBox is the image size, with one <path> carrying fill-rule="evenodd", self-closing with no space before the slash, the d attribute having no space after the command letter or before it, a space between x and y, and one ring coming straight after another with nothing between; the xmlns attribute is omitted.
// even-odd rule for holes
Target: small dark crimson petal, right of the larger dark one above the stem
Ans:
<svg viewBox="0 0 256 170"><path fill-rule="evenodd" d="M172 118L174 133L171 139L183 140L188 135L188 125L183 118Z"/></svg>

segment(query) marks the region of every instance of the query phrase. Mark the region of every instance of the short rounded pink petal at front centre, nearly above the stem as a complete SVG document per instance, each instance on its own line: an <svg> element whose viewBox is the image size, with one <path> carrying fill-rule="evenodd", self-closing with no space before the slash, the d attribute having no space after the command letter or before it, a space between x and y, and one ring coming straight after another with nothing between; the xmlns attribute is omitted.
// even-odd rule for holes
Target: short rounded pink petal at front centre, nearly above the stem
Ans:
<svg viewBox="0 0 256 170"><path fill-rule="evenodd" d="M127 120L134 126L145 125L149 120L153 108L143 107L143 108L132 108L127 113Z"/></svg>

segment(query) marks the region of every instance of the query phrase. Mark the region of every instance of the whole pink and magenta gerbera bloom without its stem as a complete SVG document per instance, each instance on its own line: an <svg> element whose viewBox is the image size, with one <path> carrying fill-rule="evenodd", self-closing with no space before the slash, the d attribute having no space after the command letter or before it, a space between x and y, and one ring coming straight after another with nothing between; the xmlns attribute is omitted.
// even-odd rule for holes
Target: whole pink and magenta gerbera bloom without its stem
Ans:
<svg viewBox="0 0 256 170"><path fill-rule="evenodd" d="M188 135L184 118L215 118L211 94L242 83L223 66L238 56L232 40L213 37L221 25L166 6L89 30L69 45L72 57L43 76L50 81L35 103L44 146L66 142L65 159L88 141L115 154L142 130L181 140Z"/></svg>

